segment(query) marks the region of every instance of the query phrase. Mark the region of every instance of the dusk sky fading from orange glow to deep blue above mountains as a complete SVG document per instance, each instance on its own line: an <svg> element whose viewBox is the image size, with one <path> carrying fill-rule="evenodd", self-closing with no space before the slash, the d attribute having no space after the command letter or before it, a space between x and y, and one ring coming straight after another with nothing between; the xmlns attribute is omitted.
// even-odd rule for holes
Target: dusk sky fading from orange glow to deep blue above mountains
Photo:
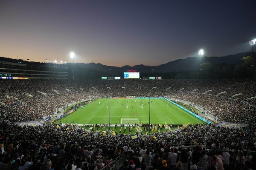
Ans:
<svg viewBox="0 0 256 170"><path fill-rule="evenodd" d="M2 57L156 66L254 38L256 0L0 0Z"/></svg>

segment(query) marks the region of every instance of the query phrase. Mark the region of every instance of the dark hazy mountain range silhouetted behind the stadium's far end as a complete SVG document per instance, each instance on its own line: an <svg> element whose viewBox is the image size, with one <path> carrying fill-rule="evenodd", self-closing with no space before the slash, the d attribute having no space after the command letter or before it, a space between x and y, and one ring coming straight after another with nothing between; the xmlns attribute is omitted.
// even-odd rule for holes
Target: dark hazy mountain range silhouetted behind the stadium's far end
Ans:
<svg viewBox="0 0 256 170"><path fill-rule="evenodd" d="M106 72L110 75L118 75L122 72L127 72L127 70L136 70L136 72L151 73L151 72L172 72L172 71L192 71L200 68L200 64L204 62L215 64L241 64L241 58L251 55L251 52L242 52L236 55L227 55L222 57L188 57L185 59L178 59L175 61L170 61L159 66L145 66L143 64L135 66L106 66L101 63L76 63L81 69L98 70L100 72ZM253 52L253 56L256 53Z"/></svg>

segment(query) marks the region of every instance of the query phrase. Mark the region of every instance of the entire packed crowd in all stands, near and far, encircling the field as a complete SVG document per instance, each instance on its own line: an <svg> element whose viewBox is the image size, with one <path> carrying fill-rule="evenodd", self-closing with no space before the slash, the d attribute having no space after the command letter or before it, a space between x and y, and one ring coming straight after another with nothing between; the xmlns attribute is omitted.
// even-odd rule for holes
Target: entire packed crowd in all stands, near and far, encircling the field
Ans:
<svg viewBox="0 0 256 170"><path fill-rule="evenodd" d="M120 170L253 169L256 109L253 100L242 101L256 96L254 87L254 80L0 81L0 170L100 170L121 153L126 160ZM221 91L227 92L216 96ZM230 98L237 93L243 94L239 100ZM250 128L190 125L176 132L140 135L133 141L129 135L106 137L75 125L13 124L42 119L75 101L108 95L171 96L203 106L221 121L247 123ZM186 149L188 143L195 148Z"/></svg>

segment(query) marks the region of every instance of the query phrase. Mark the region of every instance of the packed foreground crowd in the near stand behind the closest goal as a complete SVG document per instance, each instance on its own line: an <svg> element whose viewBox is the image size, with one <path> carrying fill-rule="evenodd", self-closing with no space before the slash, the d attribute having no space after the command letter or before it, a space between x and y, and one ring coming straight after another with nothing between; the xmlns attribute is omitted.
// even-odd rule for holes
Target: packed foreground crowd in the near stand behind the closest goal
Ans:
<svg viewBox="0 0 256 170"><path fill-rule="evenodd" d="M1 120L0 134L0 170L100 170L121 153L128 161L120 170L240 170L255 167L256 161L255 128L190 125L134 141L129 135L93 134L75 125L19 127ZM186 143L195 147L186 149Z"/></svg>

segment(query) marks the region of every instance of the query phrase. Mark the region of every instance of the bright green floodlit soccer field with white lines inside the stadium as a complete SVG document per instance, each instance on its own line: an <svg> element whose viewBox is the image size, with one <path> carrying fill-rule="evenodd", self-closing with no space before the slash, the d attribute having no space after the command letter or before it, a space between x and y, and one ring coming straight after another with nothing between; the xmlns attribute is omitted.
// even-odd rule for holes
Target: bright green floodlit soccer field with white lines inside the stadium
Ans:
<svg viewBox="0 0 256 170"><path fill-rule="evenodd" d="M62 123L108 124L108 109L111 124L148 124L149 99L97 99L75 112L61 118ZM58 123L59 121L57 121ZM175 106L165 99L151 99L151 124L204 124L199 118Z"/></svg>

